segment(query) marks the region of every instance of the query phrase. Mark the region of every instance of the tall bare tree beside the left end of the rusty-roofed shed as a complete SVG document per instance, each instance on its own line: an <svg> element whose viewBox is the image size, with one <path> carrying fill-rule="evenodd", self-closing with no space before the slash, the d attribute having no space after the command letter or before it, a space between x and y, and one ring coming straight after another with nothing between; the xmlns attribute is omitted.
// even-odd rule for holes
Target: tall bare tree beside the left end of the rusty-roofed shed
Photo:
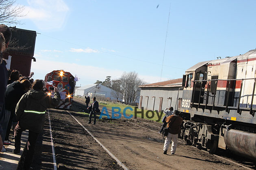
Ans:
<svg viewBox="0 0 256 170"><path fill-rule="evenodd" d="M139 85L143 85L143 82L138 77L137 72L124 72L120 78L120 88L123 94L125 104L135 102L140 95Z"/></svg>

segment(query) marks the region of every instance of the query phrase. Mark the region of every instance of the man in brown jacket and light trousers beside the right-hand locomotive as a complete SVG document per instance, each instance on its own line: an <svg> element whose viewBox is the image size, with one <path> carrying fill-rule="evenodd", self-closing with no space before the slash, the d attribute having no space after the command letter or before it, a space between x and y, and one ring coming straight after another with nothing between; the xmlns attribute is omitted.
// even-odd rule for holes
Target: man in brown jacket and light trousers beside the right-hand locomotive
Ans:
<svg viewBox="0 0 256 170"><path fill-rule="evenodd" d="M180 125L183 121L182 117L179 116L180 112L178 110L174 111L174 115L168 116L166 118L167 127L169 127L168 135L165 138L165 145L163 147L164 154L167 154L171 142L171 155L176 152L178 143L178 134L180 133Z"/></svg>

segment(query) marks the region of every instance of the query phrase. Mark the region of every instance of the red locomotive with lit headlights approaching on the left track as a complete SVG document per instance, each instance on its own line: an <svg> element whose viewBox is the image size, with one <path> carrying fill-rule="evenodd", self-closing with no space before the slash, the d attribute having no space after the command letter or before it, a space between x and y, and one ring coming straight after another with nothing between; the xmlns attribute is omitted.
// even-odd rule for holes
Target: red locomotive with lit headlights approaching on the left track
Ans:
<svg viewBox="0 0 256 170"><path fill-rule="evenodd" d="M69 109L72 106L76 85L74 79L75 77L70 72L65 72L64 70L54 70L46 74L45 82L48 94L53 96L54 87L56 87L61 95L61 103L56 108Z"/></svg>

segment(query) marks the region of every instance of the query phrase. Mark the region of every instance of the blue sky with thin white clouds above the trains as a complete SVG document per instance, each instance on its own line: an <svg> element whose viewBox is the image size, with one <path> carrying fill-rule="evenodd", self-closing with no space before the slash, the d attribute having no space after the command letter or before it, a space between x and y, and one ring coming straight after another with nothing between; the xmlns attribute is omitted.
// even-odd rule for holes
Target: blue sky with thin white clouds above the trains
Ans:
<svg viewBox="0 0 256 170"><path fill-rule="evenodd" d="M185 70L198 62L256 48L255 0L17 3L25 6L27 15L16 27L40 33L35 45L37 62L31 67L34 79L63 69L80 77L77 85L86 85L136 71L141 79L154 83L182 78Z"/></svg>

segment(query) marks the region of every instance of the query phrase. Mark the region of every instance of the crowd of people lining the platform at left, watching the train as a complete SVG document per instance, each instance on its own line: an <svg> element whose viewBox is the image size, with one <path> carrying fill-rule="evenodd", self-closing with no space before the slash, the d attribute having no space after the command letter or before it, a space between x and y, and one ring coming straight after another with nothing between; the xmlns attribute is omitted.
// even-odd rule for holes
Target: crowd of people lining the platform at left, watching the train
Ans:
<svg viewBox="0 0 256 170"><path fill-rule="evenodd" d="M24 159L24 170L29 170L33 161L37 137L43 130L47 108L54 108L60 103L60 94L54 87L54 97L44 91L43 80L33 80L22 76L18 70L8 70L2 53L8 48L11 30L0 24L0 151L5 152L3 144L11 144L9 134L14 131L15 149L20 153L21 136L28 130L27 153Z"/></svg>

